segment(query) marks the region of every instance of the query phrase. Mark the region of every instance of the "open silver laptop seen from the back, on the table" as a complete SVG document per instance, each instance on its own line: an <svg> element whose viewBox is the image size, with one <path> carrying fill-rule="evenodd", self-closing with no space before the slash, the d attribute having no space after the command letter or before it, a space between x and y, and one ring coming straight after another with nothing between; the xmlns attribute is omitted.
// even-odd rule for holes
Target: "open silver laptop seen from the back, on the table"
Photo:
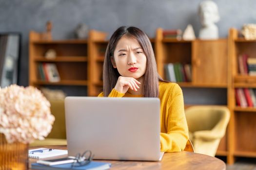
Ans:
<svg viewBox="0 0 256 170"><path fill-rule="evenodd" d="M94 159L158 161L158 98L66 97L68 155L91 150Z"/></svg>

